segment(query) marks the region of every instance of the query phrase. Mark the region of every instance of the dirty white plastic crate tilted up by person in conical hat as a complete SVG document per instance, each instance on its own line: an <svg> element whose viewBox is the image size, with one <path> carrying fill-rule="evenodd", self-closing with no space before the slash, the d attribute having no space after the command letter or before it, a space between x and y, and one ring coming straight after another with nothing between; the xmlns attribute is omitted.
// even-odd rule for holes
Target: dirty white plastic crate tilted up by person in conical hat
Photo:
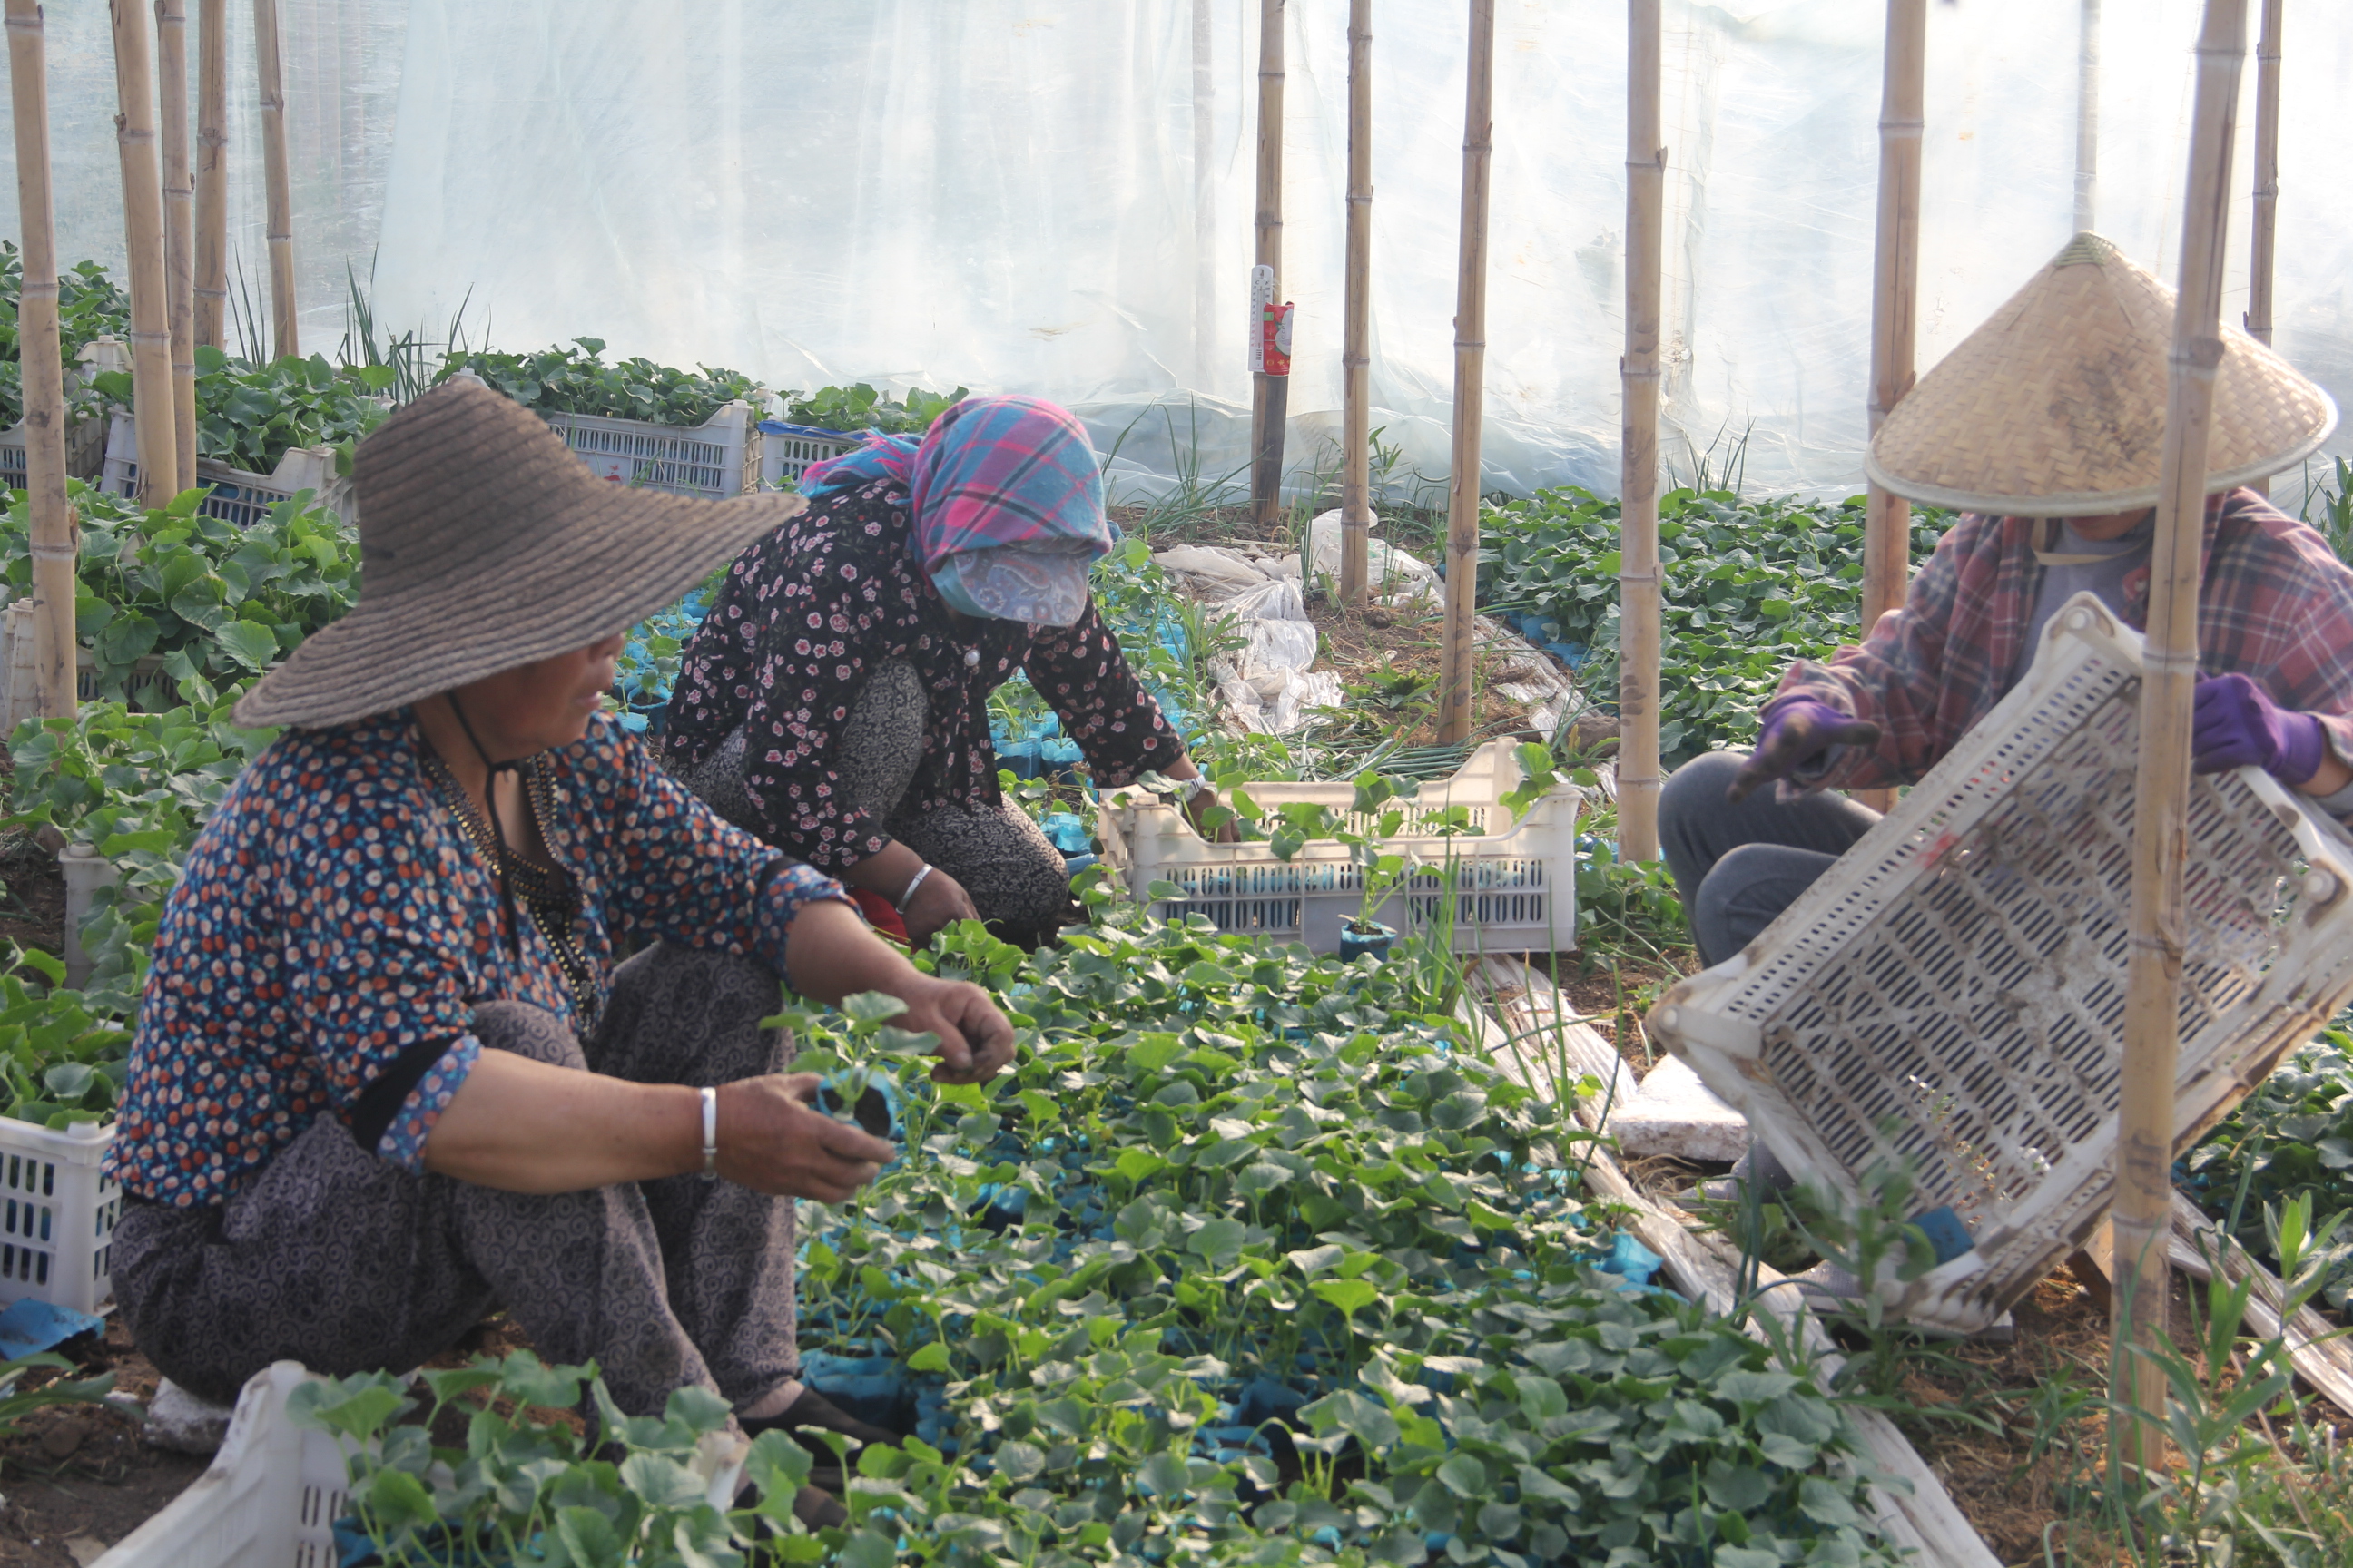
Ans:
<svg viewBox="0 0 2353 1568"><path fill-rule="evenodd" d="M1873 1288L1915 1324L1984 1328L2108 1213L2139 677L2141 637L2073 597L1887 818L1649 1013L1800 1180L1861 1201L1873 1166L1911 1168L1944 1262ZM2348 889L2353 837L2299 795L2193 780L2177 1152L2353 992Z"/></svg>

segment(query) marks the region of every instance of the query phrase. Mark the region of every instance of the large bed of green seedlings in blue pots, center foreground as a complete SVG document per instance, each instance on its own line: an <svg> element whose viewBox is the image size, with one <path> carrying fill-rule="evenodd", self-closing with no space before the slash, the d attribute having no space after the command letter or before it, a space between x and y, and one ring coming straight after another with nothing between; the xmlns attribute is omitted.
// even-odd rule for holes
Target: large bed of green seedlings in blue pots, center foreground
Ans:
<svg viewBox="0 0 2353 1568"><path fill-rule="evenodd" d="M1129 917L1035 957L967 926L936 964L1024 1056L986 1091L904 1067L904 1157L807 1208L809 1375L915 1436L854 1455L852 1526L788 1559L1894 1561L1840 1408L1607 1272L1642 1260L1558 1107L1391 971ZM889 1011L795 1016L802 1065L904 1060ZM400 1460L412 1530L487 1479ZM576 1472L532 1481L616 1535L652 1502Z"/></svg>

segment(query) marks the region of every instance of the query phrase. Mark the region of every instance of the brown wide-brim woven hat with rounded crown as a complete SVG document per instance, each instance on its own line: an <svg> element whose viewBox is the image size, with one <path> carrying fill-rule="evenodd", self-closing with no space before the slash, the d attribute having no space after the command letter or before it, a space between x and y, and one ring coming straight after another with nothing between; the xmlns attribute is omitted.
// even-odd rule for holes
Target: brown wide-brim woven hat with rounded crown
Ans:
<svg viewBox="0 0 2353 1568"><path fill-rule="evenodd" d="M353 484L360 602L238 698L238 724L344 724L584 649L805 505L600 480L478 381L442 383L376 425Z"/></svg>

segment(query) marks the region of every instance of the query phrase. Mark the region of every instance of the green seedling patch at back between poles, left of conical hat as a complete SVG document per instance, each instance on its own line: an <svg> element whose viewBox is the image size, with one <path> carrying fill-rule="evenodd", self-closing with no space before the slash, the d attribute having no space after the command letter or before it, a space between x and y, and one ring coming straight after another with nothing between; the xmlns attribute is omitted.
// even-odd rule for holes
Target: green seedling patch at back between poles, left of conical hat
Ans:
<svg viewBox="0 0 2353 1568"><path fill-rule="evenodd" d="M1913 567L1948 512L1913 512ZM1532 614L1588 649L1579 682L1617 696L1619 503L1565 487L1489 505L1480 607ZM1659 752L1668 766L1755 738L1758 708L1793 658L1861 637L1864 498L1755 501L1675 489L1659 498Z"/></svg>

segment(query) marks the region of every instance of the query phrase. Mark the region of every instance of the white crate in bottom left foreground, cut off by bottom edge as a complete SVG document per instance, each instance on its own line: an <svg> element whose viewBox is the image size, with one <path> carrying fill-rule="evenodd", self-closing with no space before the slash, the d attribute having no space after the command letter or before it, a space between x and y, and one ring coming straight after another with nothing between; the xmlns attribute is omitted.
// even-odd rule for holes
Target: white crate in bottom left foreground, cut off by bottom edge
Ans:
<svg viewBox="0 0 2353 1568"><path fill-rule="evenodd" d="M254 1373L212 1467L96 1563L334 1568L334 1521L351 1472L329 1434L296 1427L287 1415L287 1396L308 1380L299 1361Z"/></svg>

